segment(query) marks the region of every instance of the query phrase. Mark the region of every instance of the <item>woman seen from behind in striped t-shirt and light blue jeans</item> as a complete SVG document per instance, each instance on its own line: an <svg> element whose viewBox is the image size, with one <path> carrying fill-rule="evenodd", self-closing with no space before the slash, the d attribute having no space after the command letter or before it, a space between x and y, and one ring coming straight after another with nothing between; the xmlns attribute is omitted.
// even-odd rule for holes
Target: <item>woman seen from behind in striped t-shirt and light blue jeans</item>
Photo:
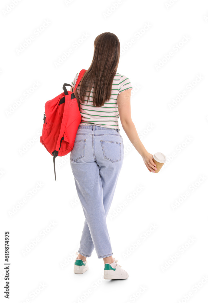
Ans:
<svg viewBox="0 0 208 303"><path fill-rule="evenodd" d="M104 261L104 279L126 279L128 273L112 257L106 216L113 200L124 160L124 144L118 118L147 169L155 172L153 155L141 143L131 120L129 78L117 73L120 42L110 32L95 38L91 66L74 92L81 113L70 164L85 222L74 273L88 269L93 249ZM71 85L75 87L78 74ZM71 88L72 91L72 88Z"/></svg>

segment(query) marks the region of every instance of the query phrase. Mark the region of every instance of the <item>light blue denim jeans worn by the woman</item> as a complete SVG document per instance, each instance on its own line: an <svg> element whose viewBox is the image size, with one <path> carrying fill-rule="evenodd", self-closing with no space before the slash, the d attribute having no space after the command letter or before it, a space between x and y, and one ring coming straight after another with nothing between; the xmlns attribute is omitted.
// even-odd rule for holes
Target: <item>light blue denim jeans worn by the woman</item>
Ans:
<svg viewBox="0 0 208 303"><path fill-rule="evenodd" d="M124 160L120 131L97 125L79 125L70 165L85 221L78 252L98 258L113 255L106 216Z"/></svg>

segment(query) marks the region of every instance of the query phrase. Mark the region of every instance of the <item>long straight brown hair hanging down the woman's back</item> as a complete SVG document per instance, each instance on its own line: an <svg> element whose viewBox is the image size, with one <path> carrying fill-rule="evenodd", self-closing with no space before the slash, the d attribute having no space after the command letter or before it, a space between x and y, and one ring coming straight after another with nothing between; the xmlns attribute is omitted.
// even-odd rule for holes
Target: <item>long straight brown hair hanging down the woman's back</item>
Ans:
<svg viewBox="0 0 208 303"><path fill-rule="evenodd" d="M87 102L89 101L92 87L94 87L94 106L103 106L111 98L111 89L119 58L120 42L116 35L106 32L95 38L92 63L84 73L80 83L79 99L81 103L84 103L86 96Z"/></svg>

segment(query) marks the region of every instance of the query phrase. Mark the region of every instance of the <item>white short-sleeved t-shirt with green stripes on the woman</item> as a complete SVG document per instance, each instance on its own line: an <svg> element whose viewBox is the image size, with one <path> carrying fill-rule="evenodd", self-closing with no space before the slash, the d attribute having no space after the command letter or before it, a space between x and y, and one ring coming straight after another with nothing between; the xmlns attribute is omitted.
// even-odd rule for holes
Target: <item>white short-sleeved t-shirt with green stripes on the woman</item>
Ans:
<svg viewBox="0 0 208 303"><path fill-rule="evenodd" d="M78 75L79 73L76 74L74 80L71 82L71 85L73 87L75 87ZM77 87L78 95L80 95L80 84L81 81ZM119 129L117 96L118 94L127 89L132 89L129 78L116 73L112 84L111 98L107 100L103 106L97 107L93 106L92 96L94 87L92 87L89 101L87 102L86 96L86 99L84 99L84 103L80 102L81 122L79 125L98 125L107 128Z"/></svg>

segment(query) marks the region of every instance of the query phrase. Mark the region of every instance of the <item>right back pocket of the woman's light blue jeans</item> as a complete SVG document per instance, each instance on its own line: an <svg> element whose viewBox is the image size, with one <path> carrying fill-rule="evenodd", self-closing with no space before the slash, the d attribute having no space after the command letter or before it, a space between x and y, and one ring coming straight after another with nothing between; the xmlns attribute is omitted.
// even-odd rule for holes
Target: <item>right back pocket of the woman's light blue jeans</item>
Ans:
<svg viewBox="0 0 208 303"><path fill-rule="evenodd" d="M121 143L101 140L104 158L111 161L121 161Z"/></svg>

